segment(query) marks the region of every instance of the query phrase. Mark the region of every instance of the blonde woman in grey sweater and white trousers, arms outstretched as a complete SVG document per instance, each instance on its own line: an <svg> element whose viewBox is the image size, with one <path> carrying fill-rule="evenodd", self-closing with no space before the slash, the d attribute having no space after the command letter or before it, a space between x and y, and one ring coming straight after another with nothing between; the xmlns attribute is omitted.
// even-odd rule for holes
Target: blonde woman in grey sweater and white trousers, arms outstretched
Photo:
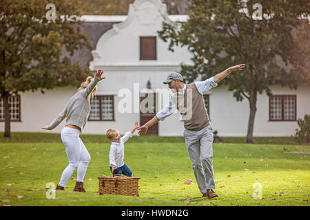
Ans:
<svg viewBox="0 0 310 220"><path fill-rule="evenodd" d="M64 118L67 118L65 127L61 131L61 140L65 144L65 152L69 159L69 165L63 170L56 190L65 190L65 185L77 168L74 191L85 192L83 179L88 163L90 162L90 154L79 135L81 134L81 129L85 127L90 113L90 98L93 98L96 93L96 84L105 78L101 77L102 74L103 71L99 69L96 71L94 78L91 76L87 77L86 81L81 84L78 92L72 96L63 111L57 115L50 125L43 127L43 129L52 130Z"/></svg>

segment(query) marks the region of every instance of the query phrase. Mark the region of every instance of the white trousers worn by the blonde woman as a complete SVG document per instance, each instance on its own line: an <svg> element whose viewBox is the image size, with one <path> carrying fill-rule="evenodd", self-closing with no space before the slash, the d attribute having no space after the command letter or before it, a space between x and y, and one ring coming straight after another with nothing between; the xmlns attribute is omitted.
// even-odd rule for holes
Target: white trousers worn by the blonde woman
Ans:
<svg viewBox="0 0 310 220"><path fill-rule="evenodd" d="M90 153L88 153L79 135L81 132L77 129L64 127L61 131L61 140L65 144L65 152L69 159L69 165L63 170L59 186L65 187L74 170L77 168L76 181L83 182L88 163L90 162Z"/></svg>

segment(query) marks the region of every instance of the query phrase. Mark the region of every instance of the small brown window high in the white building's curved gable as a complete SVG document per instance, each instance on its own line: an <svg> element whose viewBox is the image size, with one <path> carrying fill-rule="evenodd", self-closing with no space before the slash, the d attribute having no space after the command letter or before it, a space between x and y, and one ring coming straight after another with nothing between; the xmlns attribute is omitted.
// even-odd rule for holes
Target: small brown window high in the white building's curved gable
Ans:
<svg viewBox="0 0 310 220"><path fill-rule="evenodd" d="M156 36L140 37L140 60L157 60Z"/></svg>

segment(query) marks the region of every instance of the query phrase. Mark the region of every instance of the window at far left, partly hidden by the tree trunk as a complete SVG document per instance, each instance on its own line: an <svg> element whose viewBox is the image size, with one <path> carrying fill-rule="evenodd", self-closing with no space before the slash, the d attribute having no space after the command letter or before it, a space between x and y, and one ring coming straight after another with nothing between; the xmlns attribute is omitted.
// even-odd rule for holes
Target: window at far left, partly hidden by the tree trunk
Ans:
<svg viewBox="0 0 310 220"><path fill-rule="evenodd" d="M21 96L9 97L10 116L12 122L21 121ZM4 106L3 99L0 96L0 121L4 122Z"/></svg>

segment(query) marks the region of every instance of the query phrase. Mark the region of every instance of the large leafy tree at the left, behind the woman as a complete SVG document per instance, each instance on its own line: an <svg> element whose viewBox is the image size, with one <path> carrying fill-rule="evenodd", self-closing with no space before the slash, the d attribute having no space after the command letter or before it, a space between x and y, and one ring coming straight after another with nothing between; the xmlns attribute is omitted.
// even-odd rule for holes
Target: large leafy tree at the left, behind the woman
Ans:
<svg viewBox="0 0 310 220"><path fill-rule="evenodd" d="M81 47L91 48L79 30L81 10L74 1L0 1L0 95L3 100L5 131L10 137L8 98L23 91L76 85L87 69L70 57ZM61 15L68 15L61 17ZM72 24L73 21L74 24Z"/></svg>

